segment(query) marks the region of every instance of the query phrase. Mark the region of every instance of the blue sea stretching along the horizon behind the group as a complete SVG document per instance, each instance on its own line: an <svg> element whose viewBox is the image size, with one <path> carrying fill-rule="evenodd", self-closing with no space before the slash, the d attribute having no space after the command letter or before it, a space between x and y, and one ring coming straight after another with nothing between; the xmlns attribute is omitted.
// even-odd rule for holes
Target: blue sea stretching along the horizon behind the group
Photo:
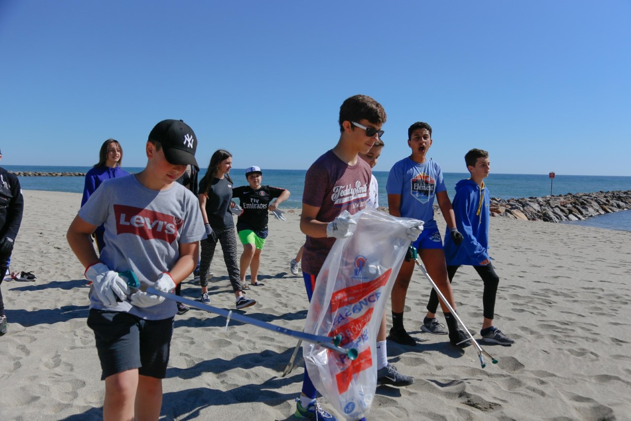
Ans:
<svg viewBox="0 0 631 421"><path fill-rule="evenodd" d="M73 166L3 166L8 171L41 171L45 173L86 173L91 167ZM129 173L138 173L143 168L124 167ZM200 171L200 178L206 173L206 169ZM292 195L282 207L286 209L302 207L302 191L306 170L303 169L265 169L263 171L263 184L282 187L289 190ZM387 171L374 171L379 182L379 204L387 206L386 181ZM468 173L444 173L447 194L454 197L454 186L457 181L468 178ZM230 177L235 185L247 185L245 170L232 168ZM80 177L20 177L20 183L25 190L45 190L48 192L83 192L84 178ZM551 180L548 174L493 174L491 173L485 184L490 190L491 197L497 198L521 198L543 197L546 195L561 195L567 193L593 193L608 192L612 190L631 190L630 176L574 176L555 174ZM585 221L568 222L597 228L617 229L631 231L631 210L621 210L613 214L594 216Z"/></svg>

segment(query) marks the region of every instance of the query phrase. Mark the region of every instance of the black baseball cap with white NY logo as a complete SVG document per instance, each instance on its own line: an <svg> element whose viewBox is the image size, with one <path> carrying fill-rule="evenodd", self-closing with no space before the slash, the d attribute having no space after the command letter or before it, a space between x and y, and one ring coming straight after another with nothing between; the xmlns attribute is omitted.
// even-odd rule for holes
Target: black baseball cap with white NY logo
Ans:
<svg viewBox="0 0 631 421"><path fill-rule="evenodd" d="M164 156L171 164L191 164L199 171L199 165L195 159L197 137L192 128L184 121L160 121L149 133L149 140L162 143Z"/></svg>

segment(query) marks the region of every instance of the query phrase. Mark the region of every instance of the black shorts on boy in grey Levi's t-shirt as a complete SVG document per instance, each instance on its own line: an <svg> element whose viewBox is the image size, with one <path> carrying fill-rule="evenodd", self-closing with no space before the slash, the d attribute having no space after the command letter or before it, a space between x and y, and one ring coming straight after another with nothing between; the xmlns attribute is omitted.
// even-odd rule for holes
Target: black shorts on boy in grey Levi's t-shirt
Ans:
<svg viewBox="0 0 631 421"><path fill-rule="evenodd" d="M174 317L144 320L125 312L90 308L88 327L94 331L101 380L112 374L138 369L156 379L167 375Z"/></svg>

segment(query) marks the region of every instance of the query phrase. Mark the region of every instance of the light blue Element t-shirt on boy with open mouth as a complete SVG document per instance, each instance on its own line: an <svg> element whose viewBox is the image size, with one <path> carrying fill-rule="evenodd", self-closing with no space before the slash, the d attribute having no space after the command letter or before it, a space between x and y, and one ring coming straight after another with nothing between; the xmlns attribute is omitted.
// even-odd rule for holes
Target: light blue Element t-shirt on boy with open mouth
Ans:
<svg viewBox="0 0 631 421"><path fill-rule="evenodd" d="M425 221L425 228L437 228L433 201L436 193L445 190L439 164L434 161L419 164L410 157L392 166L386 183L389 195L401 195L401 216Z"/></svg>

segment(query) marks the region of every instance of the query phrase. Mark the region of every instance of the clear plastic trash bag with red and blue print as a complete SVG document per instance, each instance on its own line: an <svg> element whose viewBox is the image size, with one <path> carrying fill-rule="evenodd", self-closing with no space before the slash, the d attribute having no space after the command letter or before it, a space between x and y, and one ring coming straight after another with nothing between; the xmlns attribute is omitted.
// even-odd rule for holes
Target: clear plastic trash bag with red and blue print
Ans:
<svg viewBox="0 0 631 421"><path fill-rule="evenodd" d="M377 388L377 333L410 246L402 225L410 219L375 209L362 210L353 219L353 235L335 241L317 276L305 332L341 334L340 346L355 348L359 355L351 361L319 345L302 345L315 387L350 421L370 410Z"/></svg>

